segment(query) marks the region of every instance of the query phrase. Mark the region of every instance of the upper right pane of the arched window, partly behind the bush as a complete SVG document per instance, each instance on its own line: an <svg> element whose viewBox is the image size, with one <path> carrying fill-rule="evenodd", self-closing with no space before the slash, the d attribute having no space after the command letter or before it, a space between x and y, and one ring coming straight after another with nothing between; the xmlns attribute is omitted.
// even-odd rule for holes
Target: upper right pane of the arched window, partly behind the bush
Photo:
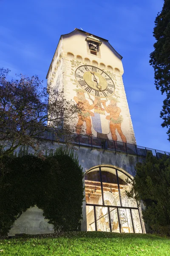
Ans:
<svg viewBox="0 0 170 256"><path fill-rule="evenodd" d="M127 180L131 181L124 173L118 172L118 177L119 177L119 186L120 186L120 193L121 193L121 198L122 198L122 206L124 207L136 207L137 208L137 203L135 199L128 198L126 195L126 191L129 192L131 189L131 186Z"/></svg>

